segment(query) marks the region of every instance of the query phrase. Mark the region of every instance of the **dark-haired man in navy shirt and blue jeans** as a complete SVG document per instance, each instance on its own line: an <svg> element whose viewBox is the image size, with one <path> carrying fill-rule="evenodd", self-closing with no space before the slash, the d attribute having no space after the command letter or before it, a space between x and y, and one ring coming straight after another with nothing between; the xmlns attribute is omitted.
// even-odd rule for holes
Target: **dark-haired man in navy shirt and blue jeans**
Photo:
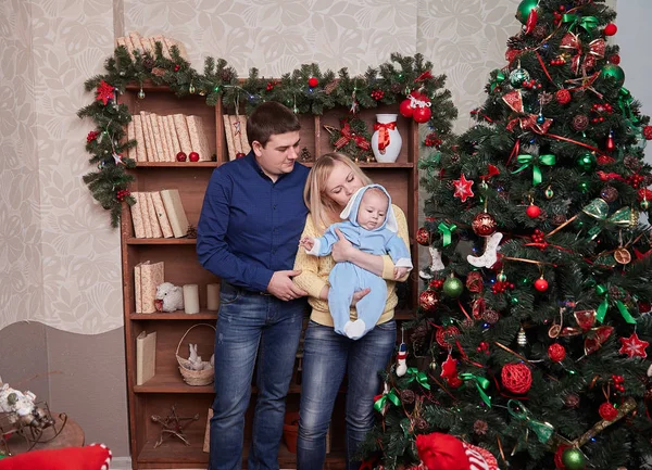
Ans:
<svg viewBox="0 0 652 470"><path fill-rule="evenodd" d="M248 468L278 469L285 398L305 295L292 283L308 208L308 168L297 164L300 123L279 103L247 120L251 152L213 172L198 226L202 266L222 278L215 334L210 470L240 470L244 412L256 363L258 399Z"/></svg>

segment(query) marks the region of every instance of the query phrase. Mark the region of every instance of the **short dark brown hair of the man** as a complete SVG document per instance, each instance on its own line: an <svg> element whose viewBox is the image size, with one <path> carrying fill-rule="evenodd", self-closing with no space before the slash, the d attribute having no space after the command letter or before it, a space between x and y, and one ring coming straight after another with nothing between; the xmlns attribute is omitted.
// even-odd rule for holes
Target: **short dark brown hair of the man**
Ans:
<svg viewBox="0 0 652 470"><path fill-rule="evenodd" d="M301 124L294 113L280 103L268 101L253 110L247 119L247 140L250 147L253 147L254 140L265 147L273 135L300 129Z"/></svg>

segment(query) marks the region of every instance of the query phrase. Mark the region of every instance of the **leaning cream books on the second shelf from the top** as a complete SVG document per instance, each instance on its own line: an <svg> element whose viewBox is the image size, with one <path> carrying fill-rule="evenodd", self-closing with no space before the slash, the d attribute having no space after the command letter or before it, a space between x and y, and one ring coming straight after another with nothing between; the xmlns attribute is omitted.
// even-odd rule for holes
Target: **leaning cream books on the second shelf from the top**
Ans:
<svg viewBox="0 0 652 470"><path fill-rule="evenodd" d="M188 217L176 189L131 192L134 236L143 238L181 238L188 234Z"/></svg>

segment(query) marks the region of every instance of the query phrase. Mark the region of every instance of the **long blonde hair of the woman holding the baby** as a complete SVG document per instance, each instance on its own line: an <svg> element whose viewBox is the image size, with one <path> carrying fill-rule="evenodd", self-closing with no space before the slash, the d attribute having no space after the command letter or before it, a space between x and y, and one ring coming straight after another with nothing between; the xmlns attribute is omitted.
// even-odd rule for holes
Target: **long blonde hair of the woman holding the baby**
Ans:
<svg viewBox="0 0 652 470"><path fill-rule="evenodd" d="M303 201L305 201L315 227L323 229L330 224L340 221L339 213L342 211L342 207L337 205L325 192L326 180L330 177L336 162L347 165L360 178L363 186L372 183L369 177L347 154L333 152L319 156L308 175Z"/></svg>

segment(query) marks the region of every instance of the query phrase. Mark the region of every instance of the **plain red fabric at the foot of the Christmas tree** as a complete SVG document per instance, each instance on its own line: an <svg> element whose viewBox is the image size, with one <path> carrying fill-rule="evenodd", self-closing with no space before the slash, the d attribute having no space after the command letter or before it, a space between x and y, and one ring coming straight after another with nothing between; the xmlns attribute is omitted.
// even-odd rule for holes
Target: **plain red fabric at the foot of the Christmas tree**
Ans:
<svg viewBox="0 0 652 470"><path fill-rule="evenodd" d="M416 449L428 470L468 470L468 457L462 441L450 434L419 434L416 436Z"/></svg>

